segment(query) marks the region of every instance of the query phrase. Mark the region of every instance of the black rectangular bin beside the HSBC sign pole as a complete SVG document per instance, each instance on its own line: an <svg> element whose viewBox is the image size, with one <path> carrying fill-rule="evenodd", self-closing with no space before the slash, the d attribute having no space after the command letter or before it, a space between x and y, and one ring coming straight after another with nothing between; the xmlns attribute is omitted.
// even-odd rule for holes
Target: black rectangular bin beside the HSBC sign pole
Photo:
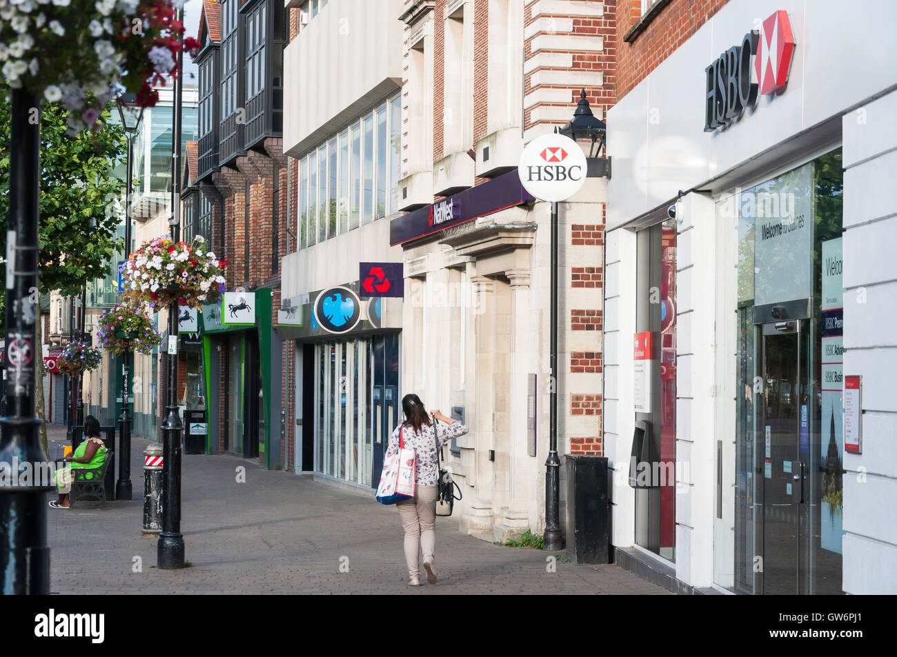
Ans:
<svg viewBox="0 0 897 657"><path fill-rule="evenodd" d="M607 457L565 454L567 557L574 564L610 563Z"/></svg>

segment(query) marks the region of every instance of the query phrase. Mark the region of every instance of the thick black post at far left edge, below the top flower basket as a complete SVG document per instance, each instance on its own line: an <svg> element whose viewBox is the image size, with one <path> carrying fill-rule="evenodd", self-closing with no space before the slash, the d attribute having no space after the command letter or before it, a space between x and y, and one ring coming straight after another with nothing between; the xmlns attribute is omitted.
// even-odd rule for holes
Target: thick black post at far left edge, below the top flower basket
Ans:
<svg viewBox="0 0 897 657"><path fill-rule="evenodd" d="M0 593L49 593L46 493L53 489L34 415L41 99L12 90L6 253L6 409L0 418ZM30 467L26 467L25 464ZM28 470L30 470L30 476Z"/></svg>

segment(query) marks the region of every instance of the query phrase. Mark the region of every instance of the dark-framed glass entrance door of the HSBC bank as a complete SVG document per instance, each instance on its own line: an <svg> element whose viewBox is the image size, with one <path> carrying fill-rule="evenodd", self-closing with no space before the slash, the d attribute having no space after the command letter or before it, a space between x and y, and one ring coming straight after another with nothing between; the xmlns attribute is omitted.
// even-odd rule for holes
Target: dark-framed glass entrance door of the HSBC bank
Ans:
<svg viewBox="0 0 897 657"><path fill-rule="evenodd" d="M799 320L763 324L762 449L757 480L762 488L762 591L806 593L806 454L809 419L806 346ZM804 323L806 324L806 323Z"/></svg>

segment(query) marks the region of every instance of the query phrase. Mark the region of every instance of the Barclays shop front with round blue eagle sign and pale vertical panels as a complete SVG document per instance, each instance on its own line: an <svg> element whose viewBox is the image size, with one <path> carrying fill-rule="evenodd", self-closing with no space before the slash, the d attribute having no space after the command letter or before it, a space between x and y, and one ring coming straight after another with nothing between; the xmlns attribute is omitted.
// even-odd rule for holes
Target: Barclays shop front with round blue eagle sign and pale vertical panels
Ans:
<svg viewBox="0 0 897 657"><path fill-rule="evenodd" d="M401 283L399 268L392 298L368 297L376 290L353 281L283 301L278 333L295 350L297 472L377 486L400 412Z"/></svg>

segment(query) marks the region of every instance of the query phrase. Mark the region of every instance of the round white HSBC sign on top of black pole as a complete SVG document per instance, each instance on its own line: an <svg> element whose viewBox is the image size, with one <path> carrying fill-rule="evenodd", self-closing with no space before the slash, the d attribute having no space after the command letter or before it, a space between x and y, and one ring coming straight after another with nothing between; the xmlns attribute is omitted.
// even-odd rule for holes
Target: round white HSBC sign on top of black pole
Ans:
<svg viewBox="0 0 897 657"><path fill-rule="evenodd" d="M520 155L517 168L524 189L542 201L565 201L586 182L586 154L562 134L536 137Z"/></svg>

